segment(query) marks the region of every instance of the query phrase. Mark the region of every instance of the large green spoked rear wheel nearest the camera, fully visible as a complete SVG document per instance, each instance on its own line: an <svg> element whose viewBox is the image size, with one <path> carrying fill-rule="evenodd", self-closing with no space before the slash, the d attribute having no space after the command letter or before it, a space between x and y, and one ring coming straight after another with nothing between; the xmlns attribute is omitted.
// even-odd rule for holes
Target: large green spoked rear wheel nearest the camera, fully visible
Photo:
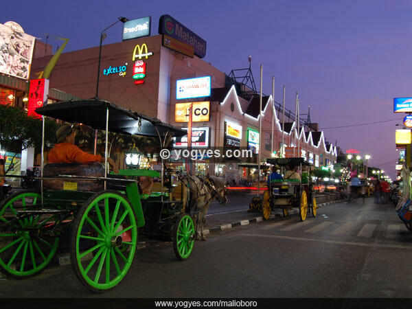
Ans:
<svg viewBox="0 0 412 309"><path fill-rule="evenodd" d="M71 266L89 290L111 290L132 266L136 244L135 211L126 196L110 190L98 192L84 203L73 222Z"/></svg>

